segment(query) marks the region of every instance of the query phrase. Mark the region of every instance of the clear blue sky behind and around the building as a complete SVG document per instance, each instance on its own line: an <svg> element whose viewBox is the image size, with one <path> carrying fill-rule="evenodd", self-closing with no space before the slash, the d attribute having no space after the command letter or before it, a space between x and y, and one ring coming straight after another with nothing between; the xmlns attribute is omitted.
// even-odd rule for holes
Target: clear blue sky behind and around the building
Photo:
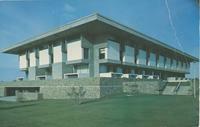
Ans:
<svg viewBox="0 0 200 127"><path fill-rule="evenodd" d="M199 54L199 10L195 0L168 0L181 46L170 25L165 0L0 1L0 49L98 12L193 56ZM198 64L192 66L198 74ZM194 72L195 71L195 72ZM22 76L18 57L0 54L0 80Z"/></svg>

